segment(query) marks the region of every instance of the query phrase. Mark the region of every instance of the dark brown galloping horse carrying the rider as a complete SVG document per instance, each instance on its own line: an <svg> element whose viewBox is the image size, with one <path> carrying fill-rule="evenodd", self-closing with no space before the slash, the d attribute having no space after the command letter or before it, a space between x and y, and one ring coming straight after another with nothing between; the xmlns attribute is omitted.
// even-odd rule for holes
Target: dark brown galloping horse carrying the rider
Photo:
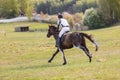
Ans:
<svg viewBox="0 0 120 80"><path fill-rule="evenodd" d="M47 37L49 38L53 35L54 39L57 40L58 34L59 34L58 29L54 25L49 25ZM64 59L63 65L65 65L67 63L67 61L66 61L65 54L64 54L63 50L64 49L70 49L73 46L78 47L79 49L82 49L85 52L85 54L88 56L89 62L91 62L92 55L89 53L89 50L86 47L85 37L88 40L90 40L93 44L95 44L96 51L97 51L98 50L98 45L92 39L92 37L90 35L88 35L86 33L79 33L79 32L68 32L68 33L63 35L63 37L61 39L60 48L57 48L56 52L52 55L52 57L48 60L48 62L50 63L53 60L53 58L55 57L55 55L60 51L62 53L62 56L63 56L63 59Z"/></svg>

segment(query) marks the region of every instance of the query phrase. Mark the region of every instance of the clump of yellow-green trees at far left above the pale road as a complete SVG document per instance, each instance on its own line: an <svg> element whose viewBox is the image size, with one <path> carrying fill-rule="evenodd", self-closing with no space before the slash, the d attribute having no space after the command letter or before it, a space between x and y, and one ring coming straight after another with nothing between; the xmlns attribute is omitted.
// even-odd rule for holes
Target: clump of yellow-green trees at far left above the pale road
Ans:
<svg viewBox="0 0 120 80"><path fill-rule="evenodd" d="M13 18L23 12L26 16L31 16L32 6L28 0L1 0L0 1L0 17Z"/></svg>

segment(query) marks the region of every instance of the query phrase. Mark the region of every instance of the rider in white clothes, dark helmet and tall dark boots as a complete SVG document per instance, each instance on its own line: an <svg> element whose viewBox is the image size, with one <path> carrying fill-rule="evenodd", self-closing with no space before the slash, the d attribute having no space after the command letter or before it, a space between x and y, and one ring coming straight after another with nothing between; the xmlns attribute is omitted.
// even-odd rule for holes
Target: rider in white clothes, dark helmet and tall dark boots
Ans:
<svg viewBox="0 0 120 80"><path fill-rule="evenodd" d="M58 30L59 30L59 26L61 27L61 30L58 35L56 47L60 47L60 41L61 41L62 35L68 31L70 31L70 27L69 27L70 25L69 25L68 21L63 18L61 13L58 13L58 21L57 21Z"/></svg>

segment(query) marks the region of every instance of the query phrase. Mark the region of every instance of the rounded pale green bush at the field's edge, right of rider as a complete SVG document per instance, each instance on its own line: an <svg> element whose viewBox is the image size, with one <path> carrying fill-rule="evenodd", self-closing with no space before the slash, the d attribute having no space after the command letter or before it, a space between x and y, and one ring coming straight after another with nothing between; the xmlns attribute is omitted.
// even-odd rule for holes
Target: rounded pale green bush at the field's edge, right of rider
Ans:
<svg viewBox="0 0 120 80"><path fill-rule="evenodd" d="M93 8L87 9L84 14L83 24L88 26L89 29L97 29L104 27L101 16Z"/></svg>

